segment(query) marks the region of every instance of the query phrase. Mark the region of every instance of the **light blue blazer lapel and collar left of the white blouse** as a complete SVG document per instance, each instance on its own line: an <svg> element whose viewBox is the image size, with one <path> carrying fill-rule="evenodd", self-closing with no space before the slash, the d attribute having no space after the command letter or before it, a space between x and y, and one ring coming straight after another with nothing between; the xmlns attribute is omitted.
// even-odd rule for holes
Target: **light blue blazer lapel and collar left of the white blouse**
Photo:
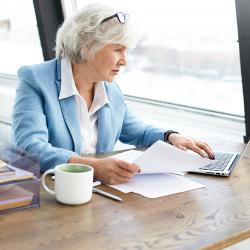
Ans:
<svg viewBox="0 0 250 250"><path fill-rule="evenodd" d="M56 79L57 89L58 89L58 97L61 90L61 61L57 60L57 79ZM68 98L64 98L59 100L62 114L65 120L65 123L69 129L71 134L73 143L74 143L74 151L80 154L81 150L81 131L80 126L76 114L76 106L75 106L75 98L74 96L70 96Z"/></svg>

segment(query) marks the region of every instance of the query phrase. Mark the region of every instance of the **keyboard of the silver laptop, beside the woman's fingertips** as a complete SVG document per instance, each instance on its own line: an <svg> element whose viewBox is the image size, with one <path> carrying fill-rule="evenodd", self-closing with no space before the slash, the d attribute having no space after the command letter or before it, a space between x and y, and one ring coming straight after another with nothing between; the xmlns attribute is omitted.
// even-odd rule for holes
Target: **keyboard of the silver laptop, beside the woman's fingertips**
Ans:
<svg viewBox="0 0 250 250"><path fill-rule="evenodd" d="M232 159L232 157L233 154L230 153L215 152L215 162L200 169L209 171L223 171L227 167L227 164Z"/></svg>

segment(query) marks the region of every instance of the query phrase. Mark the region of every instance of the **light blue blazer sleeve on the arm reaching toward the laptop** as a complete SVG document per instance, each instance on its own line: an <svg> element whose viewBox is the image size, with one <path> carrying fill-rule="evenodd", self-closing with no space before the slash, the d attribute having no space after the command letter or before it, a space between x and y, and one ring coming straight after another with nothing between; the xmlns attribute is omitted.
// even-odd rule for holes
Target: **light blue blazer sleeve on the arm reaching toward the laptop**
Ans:
<svg viewBox="0 0 250 250"><path fill-rule="evenodd" d="M145 124L125 104L125 114L120 141L136 147L148 147L158 140L164 140L166 129Z"/></svg>

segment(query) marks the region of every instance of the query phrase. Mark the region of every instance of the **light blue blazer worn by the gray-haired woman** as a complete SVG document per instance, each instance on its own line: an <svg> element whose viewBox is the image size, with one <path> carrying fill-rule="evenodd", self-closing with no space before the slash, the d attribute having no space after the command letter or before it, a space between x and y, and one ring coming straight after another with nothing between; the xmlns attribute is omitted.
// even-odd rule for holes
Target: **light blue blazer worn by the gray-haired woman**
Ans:
<svg viewBox="0 0 250 250"><path fill-rule="evenodd" d="M41 171L66 163L80 154L80 125L74 96L59 100L61 61L53 59L18 71L19 86L13 109L13 139L36 154ZM105 82L109 99L98 111L96 152L110 152L117 140L136 147L163 140L166 130L144 124L131 113L115 83Z"/></svg>

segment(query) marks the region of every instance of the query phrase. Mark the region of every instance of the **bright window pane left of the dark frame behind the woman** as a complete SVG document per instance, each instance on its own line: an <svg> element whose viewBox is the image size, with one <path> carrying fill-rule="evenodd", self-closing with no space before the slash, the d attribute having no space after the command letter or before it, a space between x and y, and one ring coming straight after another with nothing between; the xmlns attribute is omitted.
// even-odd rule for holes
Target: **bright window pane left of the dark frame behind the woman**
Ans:
<svg viewBox="0 0 250 250"><path fill-rule="evenodd" d="M0 0L0 73L43 61L32 0Z"/></svg>

